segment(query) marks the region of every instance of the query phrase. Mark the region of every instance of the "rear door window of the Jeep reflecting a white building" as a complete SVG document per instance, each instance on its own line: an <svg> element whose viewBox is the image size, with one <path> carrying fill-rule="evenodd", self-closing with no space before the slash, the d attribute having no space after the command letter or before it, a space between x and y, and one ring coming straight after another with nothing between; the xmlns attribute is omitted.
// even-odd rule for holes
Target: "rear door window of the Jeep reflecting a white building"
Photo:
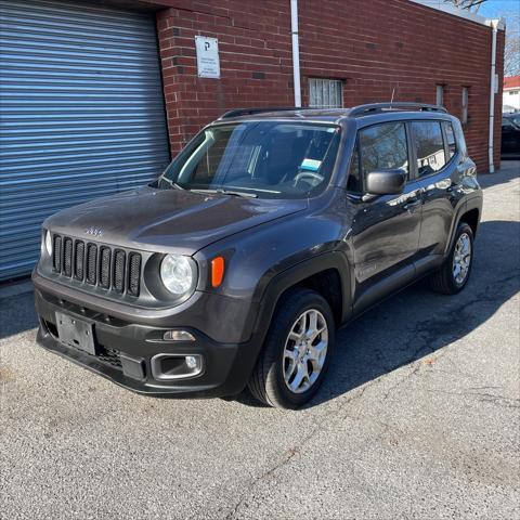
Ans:
<svg viewBox="0 0 520 520"><path fill-rule="evenodd" d="M417 152L419 177L429 176L444 168L446 156L439 121L413 121L412 133Z"/></svg>

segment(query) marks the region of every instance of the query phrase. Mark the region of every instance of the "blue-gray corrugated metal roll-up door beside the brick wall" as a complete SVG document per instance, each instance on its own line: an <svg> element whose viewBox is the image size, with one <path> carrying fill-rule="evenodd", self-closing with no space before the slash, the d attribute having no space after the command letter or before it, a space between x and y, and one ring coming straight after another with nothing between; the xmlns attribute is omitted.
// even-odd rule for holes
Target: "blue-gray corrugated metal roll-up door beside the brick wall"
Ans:
<svg viewBox="0 0 520 520"><path fill-rule="evenodd" d="M28 274L55 211L169 160L155 17L0 0L0 280Z"/></svg>

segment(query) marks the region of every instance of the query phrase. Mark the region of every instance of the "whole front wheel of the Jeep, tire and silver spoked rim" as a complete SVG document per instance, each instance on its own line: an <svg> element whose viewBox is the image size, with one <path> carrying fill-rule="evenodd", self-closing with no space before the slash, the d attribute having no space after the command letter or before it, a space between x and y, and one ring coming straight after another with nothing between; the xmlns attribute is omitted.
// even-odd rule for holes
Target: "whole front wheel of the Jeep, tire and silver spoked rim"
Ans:
<svg viewBox="0 0 520 520"><path fill-rule="evenodd" d="M302 406L323 381L334 342L335 325L327 301L313 290L291 290L273 315L249 390L270 406Z"/></svg>

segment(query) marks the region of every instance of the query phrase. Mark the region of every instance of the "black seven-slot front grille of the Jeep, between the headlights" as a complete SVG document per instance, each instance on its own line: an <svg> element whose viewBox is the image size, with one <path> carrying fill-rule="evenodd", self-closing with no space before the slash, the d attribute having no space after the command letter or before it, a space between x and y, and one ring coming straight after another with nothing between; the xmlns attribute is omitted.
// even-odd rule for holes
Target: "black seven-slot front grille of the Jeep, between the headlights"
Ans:
<svg viewBox="0 0 520 520"><path fill-rule="evenodd" d="M98 246L91 242L75 240L54 235L52 266L66 277L74 277L119 294L139 296L141 255Z"/></svg>

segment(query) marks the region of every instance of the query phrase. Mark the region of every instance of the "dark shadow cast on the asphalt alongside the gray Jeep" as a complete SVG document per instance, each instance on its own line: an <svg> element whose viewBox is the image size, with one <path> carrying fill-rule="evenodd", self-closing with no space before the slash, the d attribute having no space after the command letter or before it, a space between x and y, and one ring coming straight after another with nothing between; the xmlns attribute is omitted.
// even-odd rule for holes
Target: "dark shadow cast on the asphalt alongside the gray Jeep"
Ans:
<svg viewBox="0 0 520 520"><path fill-rule="evenodd" d="M432 354L474 330L515 296L520 290L520 223L483 222L474 248L471 277L460 294L438 295L419 281L339 329L334 362L306 408L417 360L433 362ZM261 406L247 392L236 400Z"/></svg>

